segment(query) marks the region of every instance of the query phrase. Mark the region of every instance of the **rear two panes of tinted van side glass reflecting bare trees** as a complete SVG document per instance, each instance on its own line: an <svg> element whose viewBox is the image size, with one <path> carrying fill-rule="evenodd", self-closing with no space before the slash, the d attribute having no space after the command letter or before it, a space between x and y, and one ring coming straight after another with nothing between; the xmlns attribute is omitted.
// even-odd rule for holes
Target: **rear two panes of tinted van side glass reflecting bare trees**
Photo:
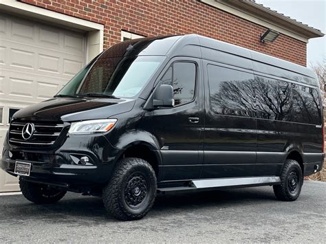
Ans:
<svg viewBox="0 0 326 244"><path fill-rule="evenodd" d="M321 124L321 111L316 89L291 82L256 76L257 118Z"/></svg>

